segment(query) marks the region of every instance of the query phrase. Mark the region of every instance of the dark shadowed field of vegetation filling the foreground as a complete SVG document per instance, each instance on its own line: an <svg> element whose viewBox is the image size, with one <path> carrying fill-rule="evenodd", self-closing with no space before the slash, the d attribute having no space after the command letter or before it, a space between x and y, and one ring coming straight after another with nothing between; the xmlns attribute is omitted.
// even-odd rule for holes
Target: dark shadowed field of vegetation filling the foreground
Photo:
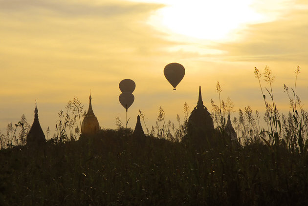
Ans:
<svg viewBox="0 0 308 206"><path fill-rule="evenodd" d="M283 144L213 138L208 148L118 129L2 149L0 205L308 204L307 145L300 153Z"/></svg>

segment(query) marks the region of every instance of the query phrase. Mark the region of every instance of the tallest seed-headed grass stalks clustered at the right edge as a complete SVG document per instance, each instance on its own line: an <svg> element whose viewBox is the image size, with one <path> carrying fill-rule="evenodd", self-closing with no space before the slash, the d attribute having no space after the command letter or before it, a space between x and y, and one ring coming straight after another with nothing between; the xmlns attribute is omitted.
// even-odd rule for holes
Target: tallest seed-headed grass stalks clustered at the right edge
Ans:
<svg viewBox="0 0 308 206"><path fill-rule="evenodd" d="M284 114L280 116L273 98L272 83L274 82L274 77L272 76L269 67L265 66L264 80L270 85L270 89L265 89L270 96L271 103L268 103L265 99L260 81L262 74L255 67L255 77L259 80L266 108L264 121L267 123L267 131L262 129L260 138L262 138L264 143L266 143L271 149L273 149L273 146L276 148L278 145L285 145L292 153L298 153L307 150L308 113L304 111L300 97L296 94L296 82L297 77L300 74L299 66L295 69L294 73L295 84L294 89L291 88L293 93L292 95L289 93L288 86L286 86L286 84L284 85L284 90L289 98L289 104L290 108L292 109L292 113L289 112L287 116ZM297 108L300 109L300 112L298 112ZM266 139L266 135L268 139ZM273 151L276 152L276 150Z"/></svg>

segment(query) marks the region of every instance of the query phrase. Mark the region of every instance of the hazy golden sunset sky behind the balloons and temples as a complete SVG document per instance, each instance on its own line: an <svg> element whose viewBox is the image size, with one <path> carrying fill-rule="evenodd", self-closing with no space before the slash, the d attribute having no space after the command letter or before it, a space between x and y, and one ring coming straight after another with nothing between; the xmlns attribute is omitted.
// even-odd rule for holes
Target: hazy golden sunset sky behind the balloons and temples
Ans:
<svg viewBox="0 0 308 206"><path fill-rule="evenodd" d="M24 114L32 124L35 100L43 131L55 130L58 113L76 96L92 107L101 128L125 123L118 84L136 88L128 110L134 128L141 110L155 124L159 106L165 119L184 119L201 86L204 105L221 98L239 108L264 112L254 67L273 72L274 100L289 110L283 85L294 88L308 110L308 2L306 0L0 0L0 132ZM164 67L185 67L173 91ZM263 87L268 84L262 81Z"/></svg>

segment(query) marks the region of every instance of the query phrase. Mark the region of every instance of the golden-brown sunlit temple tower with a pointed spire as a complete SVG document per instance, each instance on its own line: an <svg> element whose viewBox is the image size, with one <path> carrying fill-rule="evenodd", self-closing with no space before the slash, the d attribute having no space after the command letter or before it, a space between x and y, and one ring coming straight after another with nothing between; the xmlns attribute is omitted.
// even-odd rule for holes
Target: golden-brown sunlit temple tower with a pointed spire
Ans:
<svg viewBox="0 0 308 206"><path fill-rule="evenodd" d="M93 135L96 134L99 131L99 123L97 118L94 115L93 109L92 109L92 103L91 103L91 93L89 97L89 108L88 112L86 114L86 117L82 121L81 124L81 134L83 135Z"/></svg>

